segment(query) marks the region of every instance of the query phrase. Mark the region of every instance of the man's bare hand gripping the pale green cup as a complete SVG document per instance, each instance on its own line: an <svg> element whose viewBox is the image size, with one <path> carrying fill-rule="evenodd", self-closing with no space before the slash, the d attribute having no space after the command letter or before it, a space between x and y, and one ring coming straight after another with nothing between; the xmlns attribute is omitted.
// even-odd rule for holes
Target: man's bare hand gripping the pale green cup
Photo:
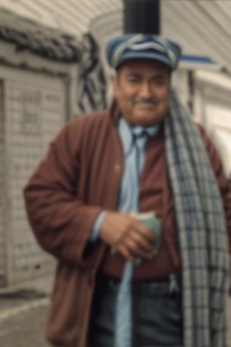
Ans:
<svg viewBox="0 0 231 347"><path fill-rule="evenodd" d="M150 259L155 235L130 214L108 212L101 226L101 239L127 260Z"/></svg>

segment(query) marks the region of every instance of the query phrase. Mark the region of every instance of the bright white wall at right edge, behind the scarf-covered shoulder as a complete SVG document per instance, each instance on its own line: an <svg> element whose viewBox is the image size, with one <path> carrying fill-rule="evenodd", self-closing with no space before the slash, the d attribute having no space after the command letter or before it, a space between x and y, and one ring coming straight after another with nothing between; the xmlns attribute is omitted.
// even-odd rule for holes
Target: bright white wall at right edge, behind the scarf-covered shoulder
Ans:
<svg viewBox="0 0 231 347"><path fill-rule="evenodd" d="M231 77L219 72L195 74L195 120L203 124L231 178Z"/></svg>

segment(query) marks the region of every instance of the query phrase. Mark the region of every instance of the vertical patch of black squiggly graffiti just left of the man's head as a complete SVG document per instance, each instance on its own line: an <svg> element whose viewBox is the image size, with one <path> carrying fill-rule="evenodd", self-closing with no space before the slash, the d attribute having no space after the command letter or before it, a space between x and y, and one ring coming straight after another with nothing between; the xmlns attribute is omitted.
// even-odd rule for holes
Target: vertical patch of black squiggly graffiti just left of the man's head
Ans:
<svg viewBox="0 0 231 347"><path fill-rule="evenodd" d="M78 108L80 112L106 108L106 78L100 48L91 33L83 35L82 57L78 74Z"/></svg>

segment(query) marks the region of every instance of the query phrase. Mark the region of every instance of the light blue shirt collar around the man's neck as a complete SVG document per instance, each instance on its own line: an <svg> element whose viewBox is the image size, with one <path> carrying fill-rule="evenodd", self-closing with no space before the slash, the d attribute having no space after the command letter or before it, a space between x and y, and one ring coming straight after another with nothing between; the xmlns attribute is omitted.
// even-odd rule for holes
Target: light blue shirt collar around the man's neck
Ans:
<svg viewBox="0 0 231 347"><path fill-rule="evenodd" d="M144 130L148 133L149 137L155 137L160 130L160 124L155 126L130 126L124 117L119 117L119 135L121 138L123 152L128 155L132 146L132 133L139 135Z"/></svg>

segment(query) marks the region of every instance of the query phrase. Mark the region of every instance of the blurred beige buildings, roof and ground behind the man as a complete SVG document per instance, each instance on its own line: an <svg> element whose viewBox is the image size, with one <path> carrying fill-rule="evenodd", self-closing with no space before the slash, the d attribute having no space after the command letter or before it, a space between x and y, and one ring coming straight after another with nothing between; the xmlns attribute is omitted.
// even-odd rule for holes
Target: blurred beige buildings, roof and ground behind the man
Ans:
<svg viewBox="0 0 231 347"><path fill-rule="evenodd" d="M0 0L0 347L48 347L55 263L35 242L22 192L60 128L110 104L105 44L123 33L129 1ZM231 1L159 3L158 31L183 51L172 85L231 179Z"/></svg>

